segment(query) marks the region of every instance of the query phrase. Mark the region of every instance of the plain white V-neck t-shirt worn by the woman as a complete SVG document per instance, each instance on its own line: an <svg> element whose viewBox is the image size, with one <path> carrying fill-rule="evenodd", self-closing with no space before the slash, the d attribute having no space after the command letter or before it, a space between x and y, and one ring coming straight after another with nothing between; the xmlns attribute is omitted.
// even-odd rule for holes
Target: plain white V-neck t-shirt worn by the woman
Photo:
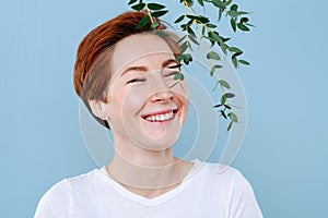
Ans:
<svg viewBox="0 0 328 218"><path fill-rule="evenodd" d="M261 218L247 180L234 168L194 161L174 190L154 198L137 195L105 168L65 179L40 199L35 218ZM222 167L222 166L221 166Z"/></svg>

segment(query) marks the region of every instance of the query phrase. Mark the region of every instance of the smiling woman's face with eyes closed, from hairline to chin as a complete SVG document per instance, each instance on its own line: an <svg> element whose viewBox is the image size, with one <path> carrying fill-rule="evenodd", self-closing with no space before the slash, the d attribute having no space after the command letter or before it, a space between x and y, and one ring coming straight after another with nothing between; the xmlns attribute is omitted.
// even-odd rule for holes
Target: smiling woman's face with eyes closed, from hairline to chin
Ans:
<svg viewBox="0 0 328 218"><path fill-rule="evenodd" d="M179 63L159 36L140 34L119 41L103 112L115 143L162 150L178 138L188 113L188 87L175 80Z"/></svg>

